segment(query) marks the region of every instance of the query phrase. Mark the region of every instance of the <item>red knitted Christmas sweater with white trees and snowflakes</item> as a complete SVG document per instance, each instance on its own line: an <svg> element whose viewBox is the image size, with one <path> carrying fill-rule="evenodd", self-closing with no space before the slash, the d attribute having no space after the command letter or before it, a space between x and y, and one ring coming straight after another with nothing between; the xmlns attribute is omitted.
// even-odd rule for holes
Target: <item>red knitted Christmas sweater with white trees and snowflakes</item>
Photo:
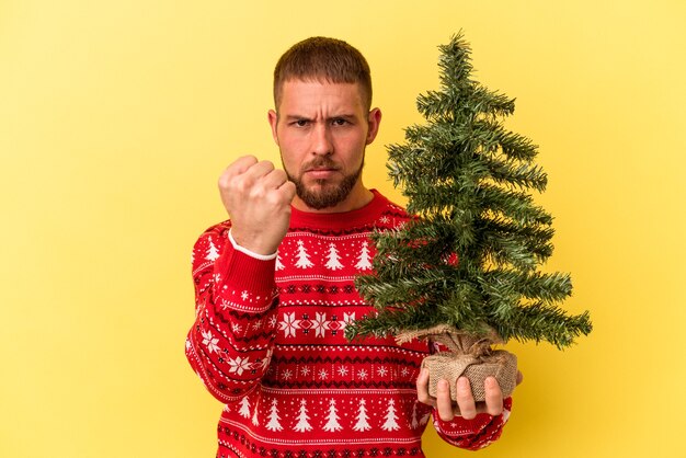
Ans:
<svg viewBox="0 0 686 458"><path fill-rule="evenodd" d="M378 192L342 214L293 209L277 256L255 257L233 244L230 221L194 245L196 318L186 357L225 404L217 457L423 457L433 419L438 435L461 448L495 440L507 420L438 419L416 399L415 380L432 348L392 337L348 342L345 327L373 311L354 278L371 272L375 229L408 214Z"/></svg>

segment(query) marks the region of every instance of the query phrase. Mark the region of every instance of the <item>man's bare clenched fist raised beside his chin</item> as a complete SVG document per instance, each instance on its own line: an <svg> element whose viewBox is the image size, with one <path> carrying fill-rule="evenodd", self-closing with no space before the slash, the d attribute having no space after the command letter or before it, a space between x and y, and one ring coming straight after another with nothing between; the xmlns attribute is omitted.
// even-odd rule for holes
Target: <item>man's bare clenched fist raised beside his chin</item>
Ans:
<svg viewBox="0 0 686 458"><path fill-rule="evenodd" d="M270 161L244 156L219 178L221 202L231 217L236 243L258 254L273 254L288 230L296 185Z"/></svg>

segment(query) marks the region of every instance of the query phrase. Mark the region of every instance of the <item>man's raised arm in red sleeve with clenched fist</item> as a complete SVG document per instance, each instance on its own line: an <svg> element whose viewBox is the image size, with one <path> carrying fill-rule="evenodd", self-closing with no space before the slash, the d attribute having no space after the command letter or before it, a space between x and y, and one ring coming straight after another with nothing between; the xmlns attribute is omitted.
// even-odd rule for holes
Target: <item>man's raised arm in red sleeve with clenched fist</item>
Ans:
<svg viewBox="0 0 686 458"><path fill-rule="evenodd" d="M209 392L230 402L251 391L270 363L276 249L295 186L271 162L244 157L224 172L219 192L231 222L210 228L194 245L196 316L186 357Z"/></svg>

